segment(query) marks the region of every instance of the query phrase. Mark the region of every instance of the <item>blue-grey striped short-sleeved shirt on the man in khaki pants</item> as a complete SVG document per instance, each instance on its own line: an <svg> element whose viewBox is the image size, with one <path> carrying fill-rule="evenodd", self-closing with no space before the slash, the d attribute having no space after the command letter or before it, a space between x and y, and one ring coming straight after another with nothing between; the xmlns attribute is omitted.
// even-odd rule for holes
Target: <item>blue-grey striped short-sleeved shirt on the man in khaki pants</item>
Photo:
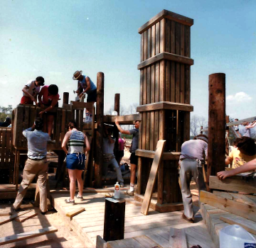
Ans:
<svg viewBox="0 0 256 248"><path fill-rule="evenodd" d="M22 133L28 140L28 158L43 159L47 154L47 142L50 136L42 130L31 130L32 128L28 128Z"/></svg>

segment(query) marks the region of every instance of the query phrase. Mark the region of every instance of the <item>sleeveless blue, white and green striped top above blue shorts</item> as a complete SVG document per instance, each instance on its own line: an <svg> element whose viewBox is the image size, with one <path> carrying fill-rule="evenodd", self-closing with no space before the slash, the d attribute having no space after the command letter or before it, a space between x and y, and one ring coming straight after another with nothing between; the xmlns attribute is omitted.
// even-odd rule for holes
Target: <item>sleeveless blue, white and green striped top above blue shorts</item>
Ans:
<svg viewBox="0 0 256 248"><path fill-rule="evenodd" d="M71 130L68 140L68 153L84 152L85 137L82 132Z"/></svg>

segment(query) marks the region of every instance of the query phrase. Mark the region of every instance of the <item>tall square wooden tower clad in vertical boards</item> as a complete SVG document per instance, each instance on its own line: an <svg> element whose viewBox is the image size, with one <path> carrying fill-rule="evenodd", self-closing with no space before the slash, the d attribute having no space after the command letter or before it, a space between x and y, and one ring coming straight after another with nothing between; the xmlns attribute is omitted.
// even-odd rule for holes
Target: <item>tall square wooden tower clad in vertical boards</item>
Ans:
<svg viewBox="0 0 256 248"><path fill-rule="evenodd" d="M143 194L158 140L166 140L156 198L151 208L181 210L178 159L190 137L191 26L193 19L163 10L139 28L141 34L138 193ZM140 196L142 197L142 196ZM154 204L152 204L154 202Z"/></svg>

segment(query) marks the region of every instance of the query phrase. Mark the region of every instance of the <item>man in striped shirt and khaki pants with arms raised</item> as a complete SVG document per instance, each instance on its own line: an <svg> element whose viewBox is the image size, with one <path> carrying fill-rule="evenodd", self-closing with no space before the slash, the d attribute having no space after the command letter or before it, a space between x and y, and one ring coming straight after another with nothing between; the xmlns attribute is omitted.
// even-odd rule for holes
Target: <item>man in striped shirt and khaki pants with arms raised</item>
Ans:
<svg viewBox="0 0 256 248"><path fill-rule="evenodd" d="M26 195L28 186L31 184L35 176L38 176L38 187L40 194L41 213L47 212L47 192L46 180L48 172L48 162L46 159L47 142L50 140L48 133L43 133L43 120L36 118L31 128L23 130L23 135L28 140L28 159L23 170L23 180L18 189L18 194L12 208L18 210L21 206L23 197Z"/></svg>

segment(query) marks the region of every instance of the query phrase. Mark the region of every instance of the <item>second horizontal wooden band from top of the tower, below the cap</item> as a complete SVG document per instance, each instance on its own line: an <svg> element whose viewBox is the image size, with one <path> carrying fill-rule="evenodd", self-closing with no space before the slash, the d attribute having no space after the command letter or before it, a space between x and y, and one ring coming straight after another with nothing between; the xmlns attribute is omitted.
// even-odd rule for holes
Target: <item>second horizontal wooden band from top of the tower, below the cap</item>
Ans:
<svg viewBox="0 0 256 248"><path fill-rule="evenodd" d="M190 57L176 55L171 52L161 52L157 55L154 55L154 57L150 57L149 59L144 60L143 62L139 63L137 66L137 69L142 69L151 64L159 62L160 60L169 60L169 61L174 61L174 62L178 62L181 64L193 65L193 60Z"/></svg>

